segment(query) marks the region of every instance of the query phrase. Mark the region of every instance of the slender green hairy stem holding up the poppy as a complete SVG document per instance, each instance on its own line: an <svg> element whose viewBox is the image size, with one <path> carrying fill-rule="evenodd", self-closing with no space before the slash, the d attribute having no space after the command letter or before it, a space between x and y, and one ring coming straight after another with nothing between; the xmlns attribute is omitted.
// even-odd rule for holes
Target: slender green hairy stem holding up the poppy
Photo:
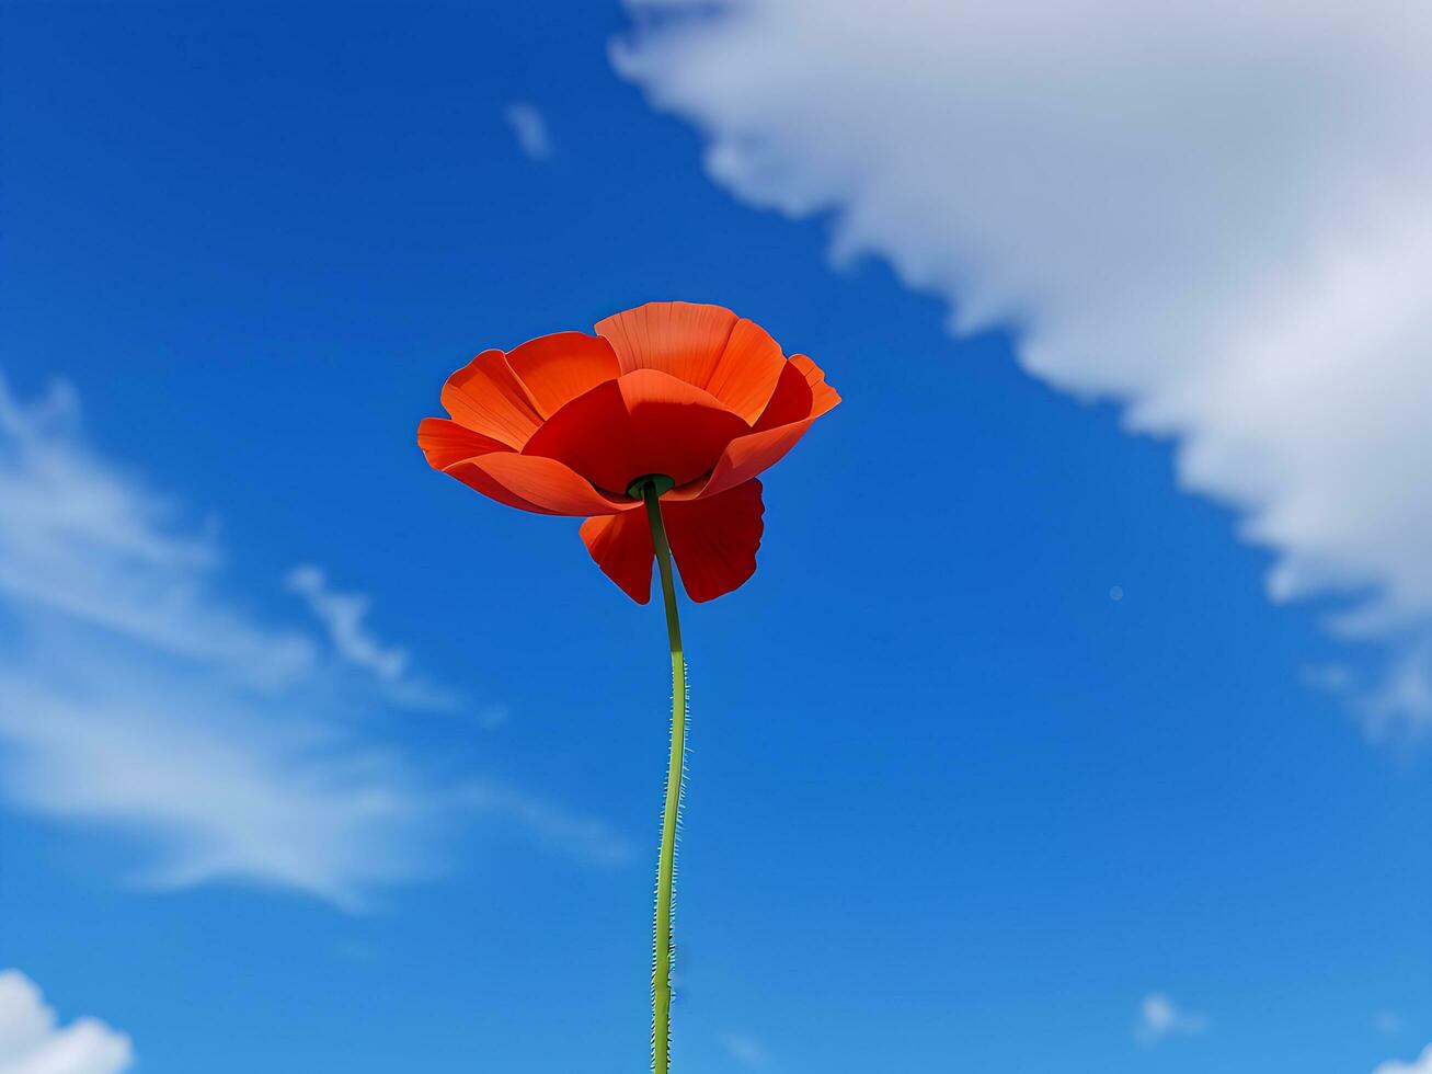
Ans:
<svg viewBox="0 0 1432 1074"><path fill-rule="evenodd" d="M672 1050L672 886L676 874L676 819L682 806L682 766L686 756L686 656L682 624L676 617L672 581L672 548L662 524L662 503L654 483L642 490L652 546L662 571L666 599L666 634L672 643L672 758L666 769L666 808L662 811L662 852L656 866L656 952L652 962L652 1070L667 1074Z"/></svg>

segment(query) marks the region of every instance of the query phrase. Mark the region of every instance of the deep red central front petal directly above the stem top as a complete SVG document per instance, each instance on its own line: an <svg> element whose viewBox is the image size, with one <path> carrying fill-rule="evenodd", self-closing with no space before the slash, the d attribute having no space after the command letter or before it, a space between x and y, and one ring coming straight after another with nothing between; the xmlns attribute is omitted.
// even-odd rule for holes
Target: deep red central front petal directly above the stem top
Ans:
<svg viewBox="0 0 1432 1074"><path fill-rule="evenodd" d="M692 481L748 431L709 392L656 369L637 369L569 402L523 453L556 458L599 488L624 493L644 474Z"/></svg>

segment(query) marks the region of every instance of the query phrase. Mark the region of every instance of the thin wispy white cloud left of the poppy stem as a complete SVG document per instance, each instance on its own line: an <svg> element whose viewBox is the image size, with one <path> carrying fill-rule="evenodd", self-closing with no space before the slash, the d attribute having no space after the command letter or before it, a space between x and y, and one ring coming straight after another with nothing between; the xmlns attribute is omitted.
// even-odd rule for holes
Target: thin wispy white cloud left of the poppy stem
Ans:
<svg viewBox="0 0 1432 1074"><path fill-rule="evenodd" d="M475 815L580 859L621 856L597 821L495 782L434 786L411 758L372 745L348 719L367 693L347 683L348 666L223 596L221 553L212 531L186 531L173 504L84 444L72 391L23 407L0 379L0 627L16 634L0 652L0 795L11 805L139 836L139 884L241 881L351 909L437 871ZM349 626L339 644L362 673L395 666L362 647L361 617ZM404 673L395 687L411 686Z"/></svg>

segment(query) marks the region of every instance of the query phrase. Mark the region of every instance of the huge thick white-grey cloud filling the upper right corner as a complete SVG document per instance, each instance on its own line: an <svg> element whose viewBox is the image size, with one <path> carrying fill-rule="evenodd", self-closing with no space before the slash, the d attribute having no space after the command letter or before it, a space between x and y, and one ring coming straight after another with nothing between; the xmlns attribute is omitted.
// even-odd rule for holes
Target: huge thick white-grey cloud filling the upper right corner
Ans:
<svg viewBox="0 0 1432 1074"><path fill-rule="evenodd" d="M707 170L1177 444L1181 484L1390 646L1432 726L1432 7L627 0Z"/></svg>

